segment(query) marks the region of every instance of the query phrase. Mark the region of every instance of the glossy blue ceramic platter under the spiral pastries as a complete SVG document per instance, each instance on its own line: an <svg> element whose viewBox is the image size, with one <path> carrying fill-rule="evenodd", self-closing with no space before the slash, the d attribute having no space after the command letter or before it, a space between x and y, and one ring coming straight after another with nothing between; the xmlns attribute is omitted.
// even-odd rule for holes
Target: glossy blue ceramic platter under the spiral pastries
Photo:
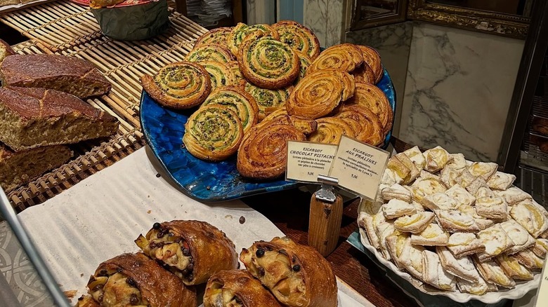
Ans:
<svg viewBox="0 0 548 307"><path fill-rule="evenodd" d="M396 110L396 92L388 71L377 83ZM141 127L145 139L160 164L188 196L197 200L217 202L244 196L291 189L299 184L276 180L254 182L237 172L236 157L222 162L206 162L191 155L181 147L185 123L193 110L164 109L143 90L141 95ZM392 131L386 135L383 148L389 144Z"/></svg>

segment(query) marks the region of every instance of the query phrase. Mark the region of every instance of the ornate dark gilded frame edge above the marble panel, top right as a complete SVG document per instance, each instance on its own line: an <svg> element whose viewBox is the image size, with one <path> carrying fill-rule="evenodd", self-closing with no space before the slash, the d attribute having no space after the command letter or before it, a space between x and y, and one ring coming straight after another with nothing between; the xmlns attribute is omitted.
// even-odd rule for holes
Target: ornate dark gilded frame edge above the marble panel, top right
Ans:
<svg viewBox="0 0 548 307"><path fill-rule="evenodd" d="M545 0L541 0L545 1ZM429 4L425 0L409 0L407 18L478 32L525 39L530 18L519 15L476 11L469 8Z"/></svg>

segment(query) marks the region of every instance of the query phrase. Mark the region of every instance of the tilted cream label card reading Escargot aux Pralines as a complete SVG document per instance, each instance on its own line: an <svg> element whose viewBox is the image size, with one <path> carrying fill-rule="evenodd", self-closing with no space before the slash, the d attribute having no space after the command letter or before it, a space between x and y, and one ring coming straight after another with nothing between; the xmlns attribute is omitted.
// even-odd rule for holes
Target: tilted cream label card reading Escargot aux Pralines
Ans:
<svg viewBox="0 0 548 307"><path fill-rule="evenodd" d="M375 199L389 156L388 151L343 135L330 177L338 178L344 189Z"/></svg>

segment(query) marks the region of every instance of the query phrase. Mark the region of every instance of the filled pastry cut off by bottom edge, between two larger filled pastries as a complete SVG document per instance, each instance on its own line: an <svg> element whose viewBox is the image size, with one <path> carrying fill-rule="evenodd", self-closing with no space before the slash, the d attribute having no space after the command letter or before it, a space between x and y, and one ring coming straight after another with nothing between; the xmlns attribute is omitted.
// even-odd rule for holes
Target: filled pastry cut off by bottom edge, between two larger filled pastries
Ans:
<svg viewBox="0 0 548 307"><path fill-rule="evenodd" d="M221 271L207 281L204 307L282 307L248 271Z"/></svg>

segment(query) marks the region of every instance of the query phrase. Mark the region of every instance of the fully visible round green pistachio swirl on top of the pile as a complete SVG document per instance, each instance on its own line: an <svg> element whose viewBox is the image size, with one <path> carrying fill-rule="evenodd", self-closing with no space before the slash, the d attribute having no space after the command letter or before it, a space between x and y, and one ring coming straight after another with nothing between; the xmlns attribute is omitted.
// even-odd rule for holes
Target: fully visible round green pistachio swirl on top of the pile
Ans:
<svg viewBox="0 0 548 307"><path fill-rule="evenodd" d="M261 88L285 88L301 68L299 55L292 48L264 34L253 34L242 43L237 59L245 79Z"/></svg>

